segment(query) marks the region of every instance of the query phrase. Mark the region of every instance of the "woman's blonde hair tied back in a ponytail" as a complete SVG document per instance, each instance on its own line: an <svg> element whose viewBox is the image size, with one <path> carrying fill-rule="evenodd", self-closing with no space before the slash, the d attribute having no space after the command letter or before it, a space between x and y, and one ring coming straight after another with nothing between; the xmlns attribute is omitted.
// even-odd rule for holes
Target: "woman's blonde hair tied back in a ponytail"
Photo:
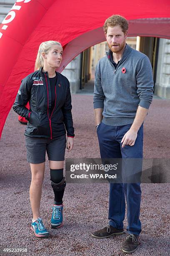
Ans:
<svg viewBox="0 0 170 256"><path fill-rule="evenodd" d="M46 41L46 42L42 42L40 44L40 47L38 49L38 54L37 54L37 58L36 58L36 61L35 61L35 70L38 70L40 69L41 67L44 66L44 61L43 61L43 58L42 58L42 53L48 53L48 51L50 50L51 46L53 45L59 45L62 47L62 45L60 44L60 42L57 42L57 41Z"/></svg>

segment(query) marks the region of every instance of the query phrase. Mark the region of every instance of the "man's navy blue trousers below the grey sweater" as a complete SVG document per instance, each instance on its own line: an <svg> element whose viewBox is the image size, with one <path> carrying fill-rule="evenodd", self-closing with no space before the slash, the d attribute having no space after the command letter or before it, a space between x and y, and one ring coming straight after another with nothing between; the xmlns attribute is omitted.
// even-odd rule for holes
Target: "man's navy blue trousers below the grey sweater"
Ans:
<svg viewBox="0 0 170 256"><path fill-rule="evenodd" d="M121 140L132 124L110 126L100 123L97 136L100 146L100 156L105 158L143 159L143 124L141 125L134 146L125 145L122 148ZM126 166L122 165L123 172ZM139 166L138 166L139 168ZM142 164L140 164L142 171ZM135 169L134 169L135 170ZM109 224L115 228L123 228L125 219L125 197L127 202L128 233L139 235L141 232L140 201L141 189L138 183L110 183L109 195Z"/></svg>

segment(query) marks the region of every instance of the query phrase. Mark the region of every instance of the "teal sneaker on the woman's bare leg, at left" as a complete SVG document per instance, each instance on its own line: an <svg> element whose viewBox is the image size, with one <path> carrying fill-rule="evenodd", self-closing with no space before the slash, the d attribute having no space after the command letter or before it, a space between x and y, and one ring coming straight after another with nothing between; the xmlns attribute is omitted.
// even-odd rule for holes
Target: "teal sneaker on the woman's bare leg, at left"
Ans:
<svg viewBox="0 0 170 256"><path fill-rule="evenodd" d="M41 218L37 218L32 222L30 229L37 237L49 237L49 232L46 230Z"/></svg>

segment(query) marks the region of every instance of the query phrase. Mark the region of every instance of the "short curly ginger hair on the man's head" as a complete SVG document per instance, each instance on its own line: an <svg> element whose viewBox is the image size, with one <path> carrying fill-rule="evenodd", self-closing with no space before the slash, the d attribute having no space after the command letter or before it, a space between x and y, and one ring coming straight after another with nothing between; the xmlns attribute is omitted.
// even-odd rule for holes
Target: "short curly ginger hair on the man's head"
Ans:
<svg viewBox="0 0 170 256"><path fill-rule="evenodd" d="M128 30L128 20L120 15L112 15L107 20L105 20L105 24L103 29L105 33L107 33L107 27L120 26L122 28L123 33Z"/></svg>

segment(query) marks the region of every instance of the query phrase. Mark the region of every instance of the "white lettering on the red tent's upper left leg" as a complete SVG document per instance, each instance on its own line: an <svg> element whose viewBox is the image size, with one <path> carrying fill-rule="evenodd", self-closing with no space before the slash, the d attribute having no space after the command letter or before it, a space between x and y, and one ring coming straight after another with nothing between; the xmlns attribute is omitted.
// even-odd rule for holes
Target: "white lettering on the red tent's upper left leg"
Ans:
<svg viewBox="0 0 170 256"><path fill-rule="evenodd" d="M20 3L20 2L29 3L30 1L31 0L17 0L16 3ZM20 8L22 7L20 5L16 5L16 3L11 8L10 12L6 15L5 19L2 20L2 24L7 24L14 20L15 15L16 15L14 10L20 10ZM7 25L4 25L4 26L2 26L1 29L5 30L5 29L7 29L7 27L8 27ZM0 32L0 38L2 38L2 36L3 36L3 34L2 34L2 32Z"/></svg>

